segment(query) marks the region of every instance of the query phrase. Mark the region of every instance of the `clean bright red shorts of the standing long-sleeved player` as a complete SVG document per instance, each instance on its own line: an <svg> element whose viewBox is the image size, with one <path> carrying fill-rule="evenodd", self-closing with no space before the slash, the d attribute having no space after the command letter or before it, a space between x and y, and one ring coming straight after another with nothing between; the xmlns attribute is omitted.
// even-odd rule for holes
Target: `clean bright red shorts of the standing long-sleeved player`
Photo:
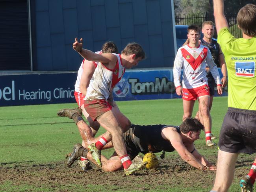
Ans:
<svg viewBox="0 0 256 192"><path fill-rule="evenodd" d="M210 96L210 89L208 85L202 85L193 89L182 89L182 99L186 101L197 100L201 96Z"/></svg>

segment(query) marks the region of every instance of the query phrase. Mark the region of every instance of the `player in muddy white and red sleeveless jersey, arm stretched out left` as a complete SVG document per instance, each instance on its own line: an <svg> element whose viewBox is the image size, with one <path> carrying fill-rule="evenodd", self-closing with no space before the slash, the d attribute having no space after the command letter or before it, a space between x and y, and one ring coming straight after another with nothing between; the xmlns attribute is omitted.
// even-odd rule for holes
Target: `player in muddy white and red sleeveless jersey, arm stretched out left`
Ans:
<svg viewBox="0 0 256 192"><path fill-rule="evenodd" d="M89 61L100 62L90 80L84 107L93 120L97 120L110 133L105 134L96 143L89 145L89 151L95 162L102 166L100 162L100 151L112 139L113 146L122 162L124 171L126 175L130 175L142 168L143 163L133 164L127 155L122 138L124 130L119 122L118 114L113 112L108 99L115 84L121 80L124 74L124 68L136 66L139 61L145 58L145 52L139 44L129 43L121 55L110 53L95 54L83 49L81 45L82 39L80 41L78 42L77 38L75 39L73 43L74 50Z"/></svg>

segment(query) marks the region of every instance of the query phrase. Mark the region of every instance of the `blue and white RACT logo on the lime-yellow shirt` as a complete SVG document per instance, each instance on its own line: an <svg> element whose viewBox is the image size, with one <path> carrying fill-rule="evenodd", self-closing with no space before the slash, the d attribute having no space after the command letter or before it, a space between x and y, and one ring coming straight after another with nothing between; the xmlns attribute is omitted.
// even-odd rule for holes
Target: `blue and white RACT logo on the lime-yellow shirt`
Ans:
<svg viewBox="0 0 256 192"><path fill-rule="evenodd" d="M254 77L255 62L236 62L236 75L242 77Z"/></svg>

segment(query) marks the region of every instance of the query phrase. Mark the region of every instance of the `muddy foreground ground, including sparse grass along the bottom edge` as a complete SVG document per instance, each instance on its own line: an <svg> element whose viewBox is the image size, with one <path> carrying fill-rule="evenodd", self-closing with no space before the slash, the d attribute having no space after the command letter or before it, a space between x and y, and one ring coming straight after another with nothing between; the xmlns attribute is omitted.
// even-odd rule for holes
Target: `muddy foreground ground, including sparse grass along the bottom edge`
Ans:
<svg viewBox="0 0 256 192"><path fill-rule="evenodd" d="M215 161L216 157L210 157ZM67 168L65 161L49 164L15 163L1 164L0 191L210 191L215 172L202 172L179 158L160 160L157 169L140 170L124 176L122 171L102 172L93 169L83 172L76 162ZM230 191L238 192L239 180L247 174L251 160L243 157L237 163L237 171Z"/></svg>

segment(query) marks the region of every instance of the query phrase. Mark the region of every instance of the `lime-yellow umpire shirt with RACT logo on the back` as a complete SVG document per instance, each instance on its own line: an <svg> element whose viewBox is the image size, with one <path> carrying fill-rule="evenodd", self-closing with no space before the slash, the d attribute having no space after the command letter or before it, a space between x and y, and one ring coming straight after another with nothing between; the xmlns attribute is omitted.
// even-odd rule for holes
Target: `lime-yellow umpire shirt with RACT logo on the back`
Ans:
<svg viewBox="0 0 256 192"><path fill-rule="evenodd" d="M228 107L256 110L256 37L236 39L224 28L218 42L228 70Z"/></svg>

